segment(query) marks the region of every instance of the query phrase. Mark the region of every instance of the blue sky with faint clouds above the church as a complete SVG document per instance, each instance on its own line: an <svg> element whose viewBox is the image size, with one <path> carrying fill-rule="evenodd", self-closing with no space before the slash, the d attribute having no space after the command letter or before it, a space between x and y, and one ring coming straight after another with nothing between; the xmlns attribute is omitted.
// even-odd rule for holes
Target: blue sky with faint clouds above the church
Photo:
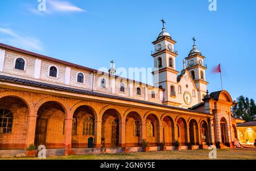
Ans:
<svg viewBox="0 0 256 171"><path fill-rule="evenodd" d="M220 75L211 70L222 65L223 87L233 99L245 95L256 100L256 2L217 0L79 1L0 0L0 42L42 55L98 69L152 67L151 44L161 31L160 19L176 40L176 66L192 48L206 57L210 92L221 89Z"/></svg>

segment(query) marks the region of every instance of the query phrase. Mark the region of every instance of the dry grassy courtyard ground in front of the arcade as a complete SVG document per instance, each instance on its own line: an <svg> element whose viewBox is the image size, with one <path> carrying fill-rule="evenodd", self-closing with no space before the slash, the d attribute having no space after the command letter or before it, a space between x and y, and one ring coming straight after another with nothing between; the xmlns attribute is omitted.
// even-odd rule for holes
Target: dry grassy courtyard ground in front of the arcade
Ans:
<svg viewBox="0 0 256 171"><path fill-rule="evenodd" d="M77 155L46 157L46 160L209 160L209 150L151 151L106 155ZM38 160L38 157L13 157L9 160ZM5 160L5 159L2 159ZM256 160L256 150L217 149L216 160Z"/></svg>

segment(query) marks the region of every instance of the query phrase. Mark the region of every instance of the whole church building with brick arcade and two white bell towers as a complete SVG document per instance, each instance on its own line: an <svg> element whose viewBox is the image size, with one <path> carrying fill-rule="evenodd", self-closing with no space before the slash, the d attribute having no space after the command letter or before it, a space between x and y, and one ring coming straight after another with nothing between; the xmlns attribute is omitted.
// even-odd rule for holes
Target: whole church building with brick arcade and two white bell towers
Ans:
<svg viewBox="0 0 256 171"><path fill-rule="evenodd" d="M99 72L0 43L0 156L30 145L48 155L234 148L228 91L209 93L207 65L194 44L176 70L176 41L164 28L152 42L154 84ZM186 49L184 49L187 51ZM181 65L181 64L180 64Z"/></svg>

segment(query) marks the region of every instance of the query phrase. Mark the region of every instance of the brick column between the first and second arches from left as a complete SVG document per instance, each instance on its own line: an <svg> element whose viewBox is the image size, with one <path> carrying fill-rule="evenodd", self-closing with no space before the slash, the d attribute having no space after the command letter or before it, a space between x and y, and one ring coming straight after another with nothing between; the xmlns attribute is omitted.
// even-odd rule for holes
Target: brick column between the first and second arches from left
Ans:
<svg viewBox="0 0 256 171"><path fill-rule="evenodd" d="M27 148L30 144L34 144L35 129L36 129L36 114L28 115L27 137L26 137L26 144L24 148Z"/></svg>

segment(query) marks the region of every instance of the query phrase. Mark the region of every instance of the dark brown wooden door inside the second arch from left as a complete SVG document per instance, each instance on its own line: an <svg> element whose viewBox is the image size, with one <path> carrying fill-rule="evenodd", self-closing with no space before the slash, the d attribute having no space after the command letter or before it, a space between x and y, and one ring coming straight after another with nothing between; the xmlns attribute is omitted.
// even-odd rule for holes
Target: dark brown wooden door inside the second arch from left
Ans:
<svg viewBox="0 0 256 171"><path fill-rule="evenodd" d="M36 120L36 131L35 131L36 146L46 145L47 122L48 122L48 119Z"/></svg>

